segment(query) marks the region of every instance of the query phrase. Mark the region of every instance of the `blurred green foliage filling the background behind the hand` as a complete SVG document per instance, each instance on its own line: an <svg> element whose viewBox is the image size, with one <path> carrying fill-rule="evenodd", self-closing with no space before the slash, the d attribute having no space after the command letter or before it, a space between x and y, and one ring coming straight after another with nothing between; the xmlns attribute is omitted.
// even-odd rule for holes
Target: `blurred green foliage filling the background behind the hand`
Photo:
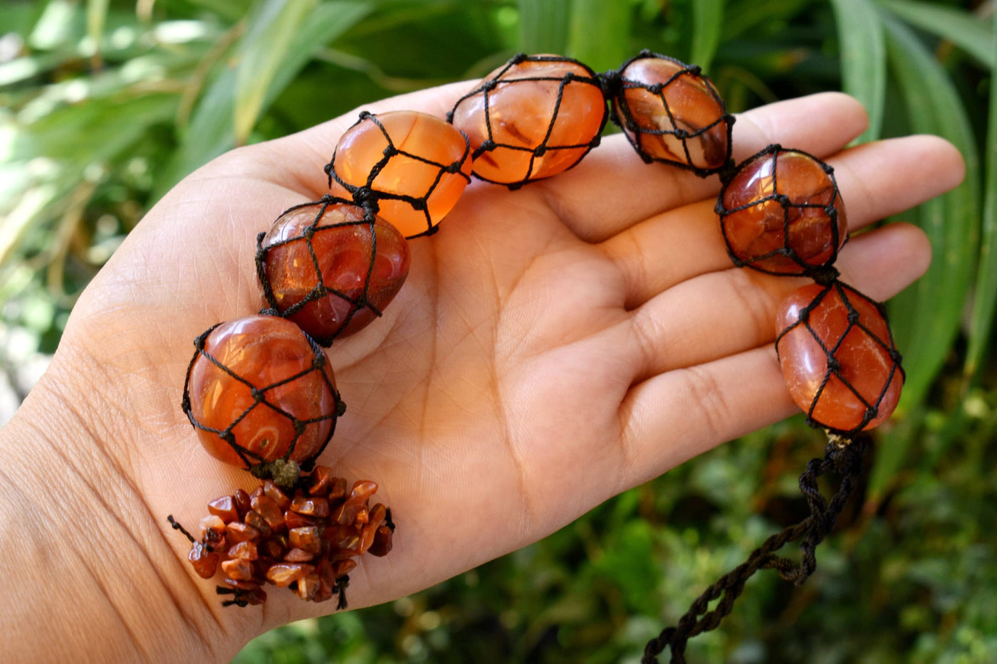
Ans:
<svg viewBox="0 0 997 664"><path fill-rule="evenodd" d="M58 344L76 295L185 173L241 144L518 51L595 70L642 48L701 64L732 111L822 90L861 141L937 134L965 182L904 215L934 262L890 303L901 417L803 588L763 572L693 662L997 662L997 66L992 2L4 0L0 371ZM330 152L331 152L330 146ZM27 380L30 382L30 380ZM277 629L237 662L617 662L807 514L823 450L790 420L412 597Z"/></svg>

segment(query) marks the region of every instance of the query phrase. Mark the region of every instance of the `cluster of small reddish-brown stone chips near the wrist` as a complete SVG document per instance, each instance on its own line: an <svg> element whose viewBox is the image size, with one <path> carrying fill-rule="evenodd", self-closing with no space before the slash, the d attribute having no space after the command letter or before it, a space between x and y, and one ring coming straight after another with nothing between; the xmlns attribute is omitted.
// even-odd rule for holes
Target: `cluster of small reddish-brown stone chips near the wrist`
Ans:
<svg viewBox="0 0 997 664"><path fill-rule="evenodd" d="M302 480L291 496L266 480L251 494L239 489L208 503L187 558L203 578L221 568L218 593L233 596L225 604L262 604L262 586L272 583L305 601L338 595L344 608L357 556L391 550L391 512L380 502L370 506L377 484L361 481L347 491L346 480L323 466Z"/></svg>

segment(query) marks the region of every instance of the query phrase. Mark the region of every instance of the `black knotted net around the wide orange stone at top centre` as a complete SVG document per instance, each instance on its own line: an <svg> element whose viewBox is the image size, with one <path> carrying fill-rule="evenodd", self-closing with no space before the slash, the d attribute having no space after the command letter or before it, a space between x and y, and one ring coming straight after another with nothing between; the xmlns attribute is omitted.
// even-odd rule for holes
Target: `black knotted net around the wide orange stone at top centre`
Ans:
<svg viewBox="0 0 997 664"><path fill-rule="evenodd" d="M549 76L523 76L518 73L514 74L510 73L510 70L512 70L513 67L517 65L520 65L522 63L534 63L534 62L570 63L572 65L577 65L578 67L583 68L588 73L588 75L580 76L578 74L569 72L564 74L564 76L562 77L549 77ZM513 76L513 75L515 78L508 78L508 79L505 78L507 76ZM492 97L494 91L508 86L530 86L536 83L557 84L556 99L554 101L554 106L550 114L550 120L547 122L546 131L543 133L542 139L536 145L530 145L530 146L498 143L495 138L496 131L494 123L496 121L493 117L495 113L494 100ZM595 72L593 72L588 66L584 65L583 63L580 63L577 60L573 60L571 58L563 58L560 56L548 56L548 55L527 56L524 53L520 53L515 57L513 57L512 59L510 59L507 63L505 63L505 66L502 67L502 69L499 70L495 76L485 79L484 81L482 81L481 85L479 85L477 88L475 88L467 95L462 97L460 100L458 100L457 104L454 105L454 108L447 114L447 122L452 124L454 122L454 115L455 113L457 113L457 110L461 107L461 105L474 103L472 100L474 100L474 98L477 98L479 96L483 98L482 104L484 105L485 108L485 123L488 130L488 139L475 150L474 154L472 155L472 159L474 159L477 162L483 155L486 155L487 153L495 153L497 151L513 151L529 155L529 160L522 173L522 177L518 180L508 182L508 181L497 181L495 179L489 179L488 177L482 176L478 172L477 168L475 169L475 175L481 179L484 179L485 181L493 182L496 184L503 184L507 186L509 189L517 189L523 184L530 182L534 179L537 179L534 176L534 173L537 168L536 162L547 153L574 151L577 153L577 158L574 160L571 166L568 166L568 168L577 166L577 164L582 160L582 158L585 157L585 155L589 153L589 151L591 151L593 148L599 145L599 142L601 140L602 130L605 128L606 125L607 112L605 109L605 105L603 105L602 119L599 124L599 129L597 132L594 133L594 136L588 143L574 144L574 145L557 145L551 143L551 135L553 134L554 127L557 124L557 117L558 113L561 110L561 101L564 97L564 91L568 86L576 86L576 85L594 86L597 90L599 90L600 94L602 94L602 85L599 77L596 76ZM567 168L564 169L566 170Z"/></svg>

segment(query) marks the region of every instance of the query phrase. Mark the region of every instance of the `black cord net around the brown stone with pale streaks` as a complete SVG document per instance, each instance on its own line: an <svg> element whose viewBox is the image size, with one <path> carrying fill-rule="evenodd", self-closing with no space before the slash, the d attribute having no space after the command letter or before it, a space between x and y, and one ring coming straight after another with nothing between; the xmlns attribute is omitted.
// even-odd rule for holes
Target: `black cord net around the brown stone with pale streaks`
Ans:
<svg viewBox="0 0 997 664"><path fill-rule="evenodd" d="M677 71L664 82L653 84L628 79L623 75L624 70L632 63L649 58L671 63ZM692 170L700 177L707 177L733 166L731 162L731 149L734 145L732 132L736 119L727 113L727 107L724 104L724 100L720 97L720 93L717 92L713 82L703 75L699 65L686 65L675 58L645 49L620 65L619 69L610 70L600 74L599 77L603 82L603 91L606 99L612 105L611 118L613 124L623 130L627 141L630 142L634 151L636 151L637 155L646 164L661 162L670 166L678 166ZM720 113L711 122L699 127L691 124L687 118L684 118L684 114L673 110L668 100L669 89L689 79L695 79L701 83L702 87L712 97L720 110ZM652 97L657 98L657 109L655 109L654 117L659 119L658 122L650 122L649 117L643 117L647 114L648 109L646 108L643 109L643 114L640 114L640 117L634 113L627 95L629 91L634 90L643 90ZM667 124L660 121L663 118L668 119ZM718 128L722 135L725 135L726 139L726 146L723 147L725 155L721 160L722 163L716 167L696 166L695 163L701 161L701 158L697 159L693 157L694 153L700 152L697 144L713 144L713 135L716 134L715 130ZM680 146L681 154L676 155L674 158L657 157L645 149L645 145L648 144L649 140L660 140L666 145ZM675 151L672 150L670 152L674 153Z"/></svg>

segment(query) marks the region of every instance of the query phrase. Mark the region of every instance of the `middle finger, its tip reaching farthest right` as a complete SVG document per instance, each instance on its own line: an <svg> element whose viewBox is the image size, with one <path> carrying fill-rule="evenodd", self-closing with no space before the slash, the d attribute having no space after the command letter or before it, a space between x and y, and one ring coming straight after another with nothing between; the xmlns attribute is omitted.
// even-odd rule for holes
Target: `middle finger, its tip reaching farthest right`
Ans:
<svg viewBox="0 0 997 664"><path fill-rule="evenodd" d="M947 191L962 180L965 169L959 152L933 136L860 146L829 164L852 231ZM619 268L628 308L682 281L730 266L713 205L706 200L669 210L599 245Z"/></svg>

